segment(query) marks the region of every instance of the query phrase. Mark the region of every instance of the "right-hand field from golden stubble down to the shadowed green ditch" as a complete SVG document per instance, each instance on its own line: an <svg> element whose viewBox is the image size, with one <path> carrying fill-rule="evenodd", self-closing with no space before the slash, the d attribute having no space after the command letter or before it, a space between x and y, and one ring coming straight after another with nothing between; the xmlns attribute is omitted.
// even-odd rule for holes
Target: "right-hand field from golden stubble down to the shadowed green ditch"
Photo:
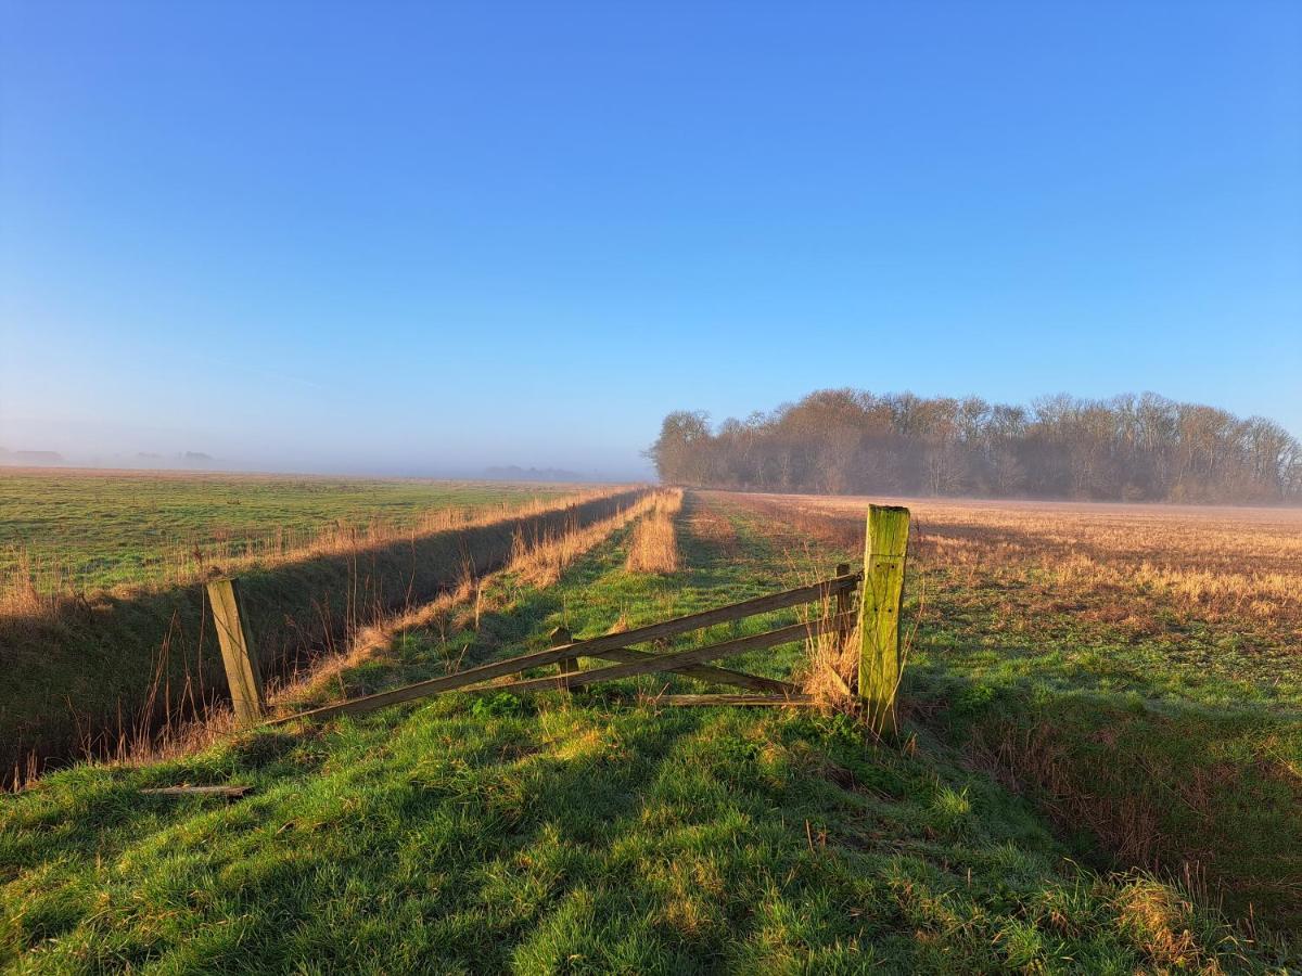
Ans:
<svg viewBox="0 0 1302 976"><path fill-rule="evenodd" d="M862 544L854 502L734 504L777 536ZM1302 930L1302 515L911 505L914 720L1078 856L1181 877L1249 930Z"/></svg>

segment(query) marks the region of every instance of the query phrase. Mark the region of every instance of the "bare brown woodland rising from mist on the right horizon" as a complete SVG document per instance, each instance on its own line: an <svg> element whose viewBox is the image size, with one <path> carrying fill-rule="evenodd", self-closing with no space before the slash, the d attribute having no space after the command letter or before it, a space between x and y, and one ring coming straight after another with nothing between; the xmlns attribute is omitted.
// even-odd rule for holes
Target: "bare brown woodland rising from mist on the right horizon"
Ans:
<svg viewBox="0 0 1302 976"><path fill-rule="evenodd" d="M1025 407L818 390L717 429L703 413L669 414L650 455L665 481L762 491L1302 500L1302 446L1279 424L1152 393Z"/></svg>

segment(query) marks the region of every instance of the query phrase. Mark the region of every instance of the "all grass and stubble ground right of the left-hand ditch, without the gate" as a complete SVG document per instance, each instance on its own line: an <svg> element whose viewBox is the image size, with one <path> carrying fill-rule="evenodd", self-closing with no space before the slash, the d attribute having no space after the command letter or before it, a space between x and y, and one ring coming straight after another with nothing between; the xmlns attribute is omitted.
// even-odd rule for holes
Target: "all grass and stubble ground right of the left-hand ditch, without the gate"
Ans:
<svg viewBox="0 0 1302 976"><path fill-rule="evenodd" d="M1258 972L1302 963L1302 517L915 515L904 729L449 695L0 800L23 971ZM358 634L289 711L823 578L866 500L689 492ZM750 622L789 623L793 610ZM703 635L719 640L732 627ZM592 666L585 661L583 666ZM811 681L805 648L729 666ZM225 803L142 787L253 786Z"/></svg>

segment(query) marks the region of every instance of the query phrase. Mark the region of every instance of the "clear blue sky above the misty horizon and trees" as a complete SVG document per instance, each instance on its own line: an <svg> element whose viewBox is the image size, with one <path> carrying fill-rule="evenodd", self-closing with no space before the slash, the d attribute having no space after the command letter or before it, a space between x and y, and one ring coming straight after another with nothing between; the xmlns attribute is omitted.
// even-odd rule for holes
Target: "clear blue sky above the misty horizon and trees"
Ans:
<svg viewBox="0 0 1302 976"><path fill-rule="evenodd" d="M0 0L0 445L626 474L665 411L1302 435L1302 4Z"/></svg>

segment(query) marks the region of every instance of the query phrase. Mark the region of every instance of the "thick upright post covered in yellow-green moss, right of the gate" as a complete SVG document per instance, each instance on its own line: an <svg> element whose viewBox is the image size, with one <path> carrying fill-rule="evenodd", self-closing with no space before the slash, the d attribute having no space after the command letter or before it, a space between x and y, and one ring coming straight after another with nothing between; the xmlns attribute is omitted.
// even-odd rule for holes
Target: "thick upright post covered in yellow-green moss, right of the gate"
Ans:
<svg viewBox="0 0 1302 976"><path fill-rule="evenodd" d="M859 699L874 731L896 727L900 686L900 605L909 550L909 509L870 505L859 599Z"/></svg>

